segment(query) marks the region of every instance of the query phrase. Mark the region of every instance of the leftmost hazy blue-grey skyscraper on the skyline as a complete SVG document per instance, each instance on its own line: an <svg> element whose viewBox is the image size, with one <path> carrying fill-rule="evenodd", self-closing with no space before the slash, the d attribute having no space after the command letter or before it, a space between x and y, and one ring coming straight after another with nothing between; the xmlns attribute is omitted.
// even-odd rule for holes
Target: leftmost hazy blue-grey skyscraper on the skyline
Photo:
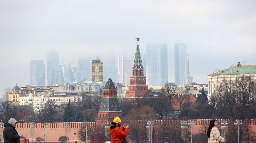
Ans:
<svg viewBox="0 0 256 143"><path fill-rule="evenodd" d="M30 61L30 85L45 86L45 64L42 60Z"/></svg>

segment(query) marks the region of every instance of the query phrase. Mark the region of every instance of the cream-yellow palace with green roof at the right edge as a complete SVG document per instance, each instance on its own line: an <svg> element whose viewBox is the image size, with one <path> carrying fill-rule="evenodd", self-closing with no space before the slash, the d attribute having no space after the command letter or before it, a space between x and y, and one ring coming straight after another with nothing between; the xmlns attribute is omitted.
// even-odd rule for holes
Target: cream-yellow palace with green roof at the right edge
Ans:
<svg viewBox="0 0 256 143"><path fill-rule="evenodd" d="M256 65L246 65L241 66L240 59L237 66L230 66L228 69L219 70L218 72L213 72L207 76L208 81L208 95L215 93L219 86L222 86L225 82L230 82L230 84L235 84L237 77L251 77L252 80L256 80Z"/></svg>

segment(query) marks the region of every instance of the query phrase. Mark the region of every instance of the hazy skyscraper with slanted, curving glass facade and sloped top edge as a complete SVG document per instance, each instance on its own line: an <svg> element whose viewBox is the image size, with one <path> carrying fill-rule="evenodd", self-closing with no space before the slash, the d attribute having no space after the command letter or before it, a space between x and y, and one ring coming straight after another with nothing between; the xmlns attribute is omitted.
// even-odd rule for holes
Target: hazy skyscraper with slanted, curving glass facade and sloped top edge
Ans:
<svg viewBox="0 0 256 143"><path fill-rule="evenodd" d="M64 77L64 84L76 81L77 65L62 63L62 72Z"/></svg>

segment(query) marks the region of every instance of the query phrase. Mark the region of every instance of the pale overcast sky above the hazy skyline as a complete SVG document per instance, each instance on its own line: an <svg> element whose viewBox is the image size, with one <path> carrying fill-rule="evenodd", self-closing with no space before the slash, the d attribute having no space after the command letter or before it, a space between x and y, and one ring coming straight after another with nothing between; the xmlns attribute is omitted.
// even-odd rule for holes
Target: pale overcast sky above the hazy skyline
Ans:
<svg viewBox="0 0 256 143"><path fill-rule="evenodd" d="M206 83L207 75L238 59L256 65L255 7L255 0L1 0L0 96L7 86L29 85L30 61L47 67L49 50L72 65L79 56L119 50L133 61L137 37L141 53L146 42L167 43L170 82L174 43L187 43L193 81Z"/></svg>

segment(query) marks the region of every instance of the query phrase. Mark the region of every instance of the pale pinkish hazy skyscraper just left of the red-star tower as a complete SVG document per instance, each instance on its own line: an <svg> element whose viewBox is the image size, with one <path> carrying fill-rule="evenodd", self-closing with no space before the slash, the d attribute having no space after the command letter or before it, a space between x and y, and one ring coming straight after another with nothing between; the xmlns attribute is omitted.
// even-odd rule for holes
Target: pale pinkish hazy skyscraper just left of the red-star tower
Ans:
<svg viewBox="0 0 256 143"><path fill-rule="evenodd" d="M130 83L132 61L123 52L118 53L118 82L123 86Z"/></svg>

